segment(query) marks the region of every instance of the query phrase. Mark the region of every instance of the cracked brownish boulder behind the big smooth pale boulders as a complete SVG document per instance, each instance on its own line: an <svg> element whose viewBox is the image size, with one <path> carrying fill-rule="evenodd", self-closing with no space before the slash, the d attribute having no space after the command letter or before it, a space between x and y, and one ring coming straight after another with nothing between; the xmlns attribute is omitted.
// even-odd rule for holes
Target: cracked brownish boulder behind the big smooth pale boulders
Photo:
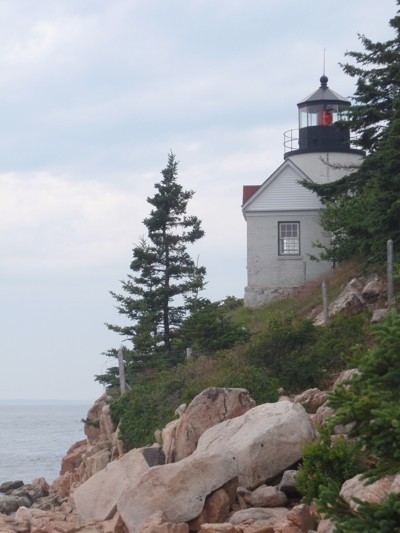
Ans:
<svg viewBox="0 0 400 533"><path fill-rule="evenodd" d="M166 462L184 459L194 452L200 436L208 428L240 416L254 406L255 401L246 389L205 389L190 402L176 424L163 432Z"/></svg>

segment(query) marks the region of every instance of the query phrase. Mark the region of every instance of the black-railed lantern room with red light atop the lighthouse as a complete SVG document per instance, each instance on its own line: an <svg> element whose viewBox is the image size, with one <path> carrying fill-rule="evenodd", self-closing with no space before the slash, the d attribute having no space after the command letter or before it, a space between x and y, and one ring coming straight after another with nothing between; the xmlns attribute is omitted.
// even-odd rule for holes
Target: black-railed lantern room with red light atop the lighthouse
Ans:
<svg viewBox="0 0 400 533"><path fill-rule="evenodd" d="M345 123L350 101L328 87L327 76L321 76L320 83L297 104L299 129L285 133L285 159L298 153L355 151L350 147L350 130Z"/></svg>

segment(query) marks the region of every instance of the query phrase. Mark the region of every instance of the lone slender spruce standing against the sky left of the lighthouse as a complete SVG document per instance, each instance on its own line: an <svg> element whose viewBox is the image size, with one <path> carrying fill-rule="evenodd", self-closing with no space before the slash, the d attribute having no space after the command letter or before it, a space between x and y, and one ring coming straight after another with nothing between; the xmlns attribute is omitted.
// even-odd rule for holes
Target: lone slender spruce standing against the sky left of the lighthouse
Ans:
<svg viewBox="0 0 400 533"><path fill-rule="evenodd" d="M147 198L152 206L143 221L147 237L133 248L132 273L121 282L122 294L111 292L118 312L129 322L126 326L106 324L132 343L131 350L125 349L128 382L140 369L176 362L174 332L185 317L188 299L205 284L205 268L197 266L187 251L204 231L196 216L186 214L194 193L177 182L177 167L175 155L170 153L163 178L155 184L156 193ZM116 351L107 355L115 356ZM114 375L111 370L97 380L112 384Z"/></svg>

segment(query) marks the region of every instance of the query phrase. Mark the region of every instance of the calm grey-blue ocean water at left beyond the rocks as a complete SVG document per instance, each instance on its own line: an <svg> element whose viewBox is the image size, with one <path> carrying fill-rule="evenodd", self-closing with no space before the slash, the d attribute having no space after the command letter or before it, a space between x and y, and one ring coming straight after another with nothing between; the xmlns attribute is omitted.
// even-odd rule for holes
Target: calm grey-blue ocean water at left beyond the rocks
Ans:
<svg viewBox="0 0 400 533"><path fill-rule="evenodd" d="M68 448L85 438L90 403L0 401L0 484L44 477L52 483Z"/></svg>

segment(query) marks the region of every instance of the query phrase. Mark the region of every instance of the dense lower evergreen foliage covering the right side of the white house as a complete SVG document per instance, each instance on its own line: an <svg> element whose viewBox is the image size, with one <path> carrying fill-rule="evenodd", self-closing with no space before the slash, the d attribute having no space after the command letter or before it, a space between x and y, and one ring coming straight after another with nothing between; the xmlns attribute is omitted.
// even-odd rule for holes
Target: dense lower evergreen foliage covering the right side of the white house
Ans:
<svg viewBox="0 0 400 533"><path fill-rule="evenodd" d="M317 243L322 258L340 262L357 255L365 267L382 265L388 239L393 240L395 257L399 257L399 151L400 97L394 103L393 118L378 149L365 158L360 168L327 187L310 187L324 203L320 220L332 235L330 246Z"/></svg>

